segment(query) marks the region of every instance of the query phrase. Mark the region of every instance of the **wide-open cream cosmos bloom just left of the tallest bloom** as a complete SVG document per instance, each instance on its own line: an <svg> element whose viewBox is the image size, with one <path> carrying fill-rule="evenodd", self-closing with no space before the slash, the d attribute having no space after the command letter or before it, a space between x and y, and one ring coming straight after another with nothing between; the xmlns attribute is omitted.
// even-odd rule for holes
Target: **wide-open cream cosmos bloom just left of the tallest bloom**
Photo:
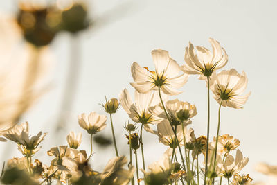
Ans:
<svg viewBox="0 0 277 185"><path fill-rule="evenodd" d="M170 58L166 50L153 50L152 58L155 71L149 71L147 67L142 68L136 62L132 64L131 72L134 82L131 85L140 93L148 93L161 87L161 90L165 94L180 94L181 91L176 88L186 84L188 75L186 73L180 74L181 69L179 64Z"/></svg>

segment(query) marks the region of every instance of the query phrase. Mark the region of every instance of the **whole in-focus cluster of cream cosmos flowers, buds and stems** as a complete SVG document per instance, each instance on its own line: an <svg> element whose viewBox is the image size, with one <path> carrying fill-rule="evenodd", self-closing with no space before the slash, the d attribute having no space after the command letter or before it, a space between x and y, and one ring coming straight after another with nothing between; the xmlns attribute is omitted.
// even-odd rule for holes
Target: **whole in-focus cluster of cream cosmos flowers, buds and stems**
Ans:
<svg viewBox="0 0 277 185"><path fill-rule="evenodd" d="M250 184L249 175L240 175L240 171L248 162L238 150L240 141L229 134L219 135L221 107L241 109L249 94L242 95L247 87L247 76L235 69L216 73L228 61L226 51L215 39L210 39L213 52L203 46L186 47L184 66L179 66L170 58L168 51L157 49L152 51L155 69L141 67L134 62L131 67L135 88L134 101L127 89L117 98L111 98L102 105L109 114L111 130L114 139L116 157L109 160L102 173L91 168L89 160L92 155L93 135L105 129L107 117L96 112L80 114L80 127L91 135L91 151L87 155L85 150L78 150L82 133L70 132L67 136L67 146L57 146L48 150L53 156L50 166L42 164L33 155L39 150L39 143L46 134L39 132L36 136L29 136L28 123L15 125L3 136L14 141L22 158L8 161L8 168L3 170L1 182L6 184L22 182L26 184L51 184L52 182L65 184ZM208 120L207 135L196 137L191 118L196 116L195 105L170 96L181 94L177 90L184 86L190 74L199 74L200 80L206 81L208 92ZM217 136L209 141L210 130L210 90L219 103ZM126 137L129 144L129 160L118 155L116 138L112 122L119 105L125 109L134 123L125 125ZM168 146L159 161L145 168L143 155L143 130L157 135L159 141ZM2 138L1 140L5 140ZM137 153L141 149L142 165L138 164ZM233 157L232 152L235 152ZM135 165L132 156L135 155ZM201 161L202 160L202 161ZM125 166L129 161L128 166ZM139 169L143 177L139 177ZM136 175L134 175L136 171ZM15 174L17 175L10 175ZM16 176L16 177L15 177ZM135 178L136 177L136 178ZM135 180L136 179L136 180ZM136 183L135 183L136 182Z"/></svg>

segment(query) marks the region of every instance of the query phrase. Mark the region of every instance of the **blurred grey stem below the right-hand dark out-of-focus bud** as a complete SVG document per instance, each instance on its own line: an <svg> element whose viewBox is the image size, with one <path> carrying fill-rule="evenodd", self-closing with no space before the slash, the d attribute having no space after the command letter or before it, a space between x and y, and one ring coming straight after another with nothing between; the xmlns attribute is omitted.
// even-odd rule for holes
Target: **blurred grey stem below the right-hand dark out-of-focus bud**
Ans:
<svg viewBox="0 0 277 185"><path fill-rule="evenodd" d="M69 71L67 73L67 78L65 82L65 87L64 87L64 94L63 94L63 99L62 99L62 105L60 108L60 114L58 114L57 118L57 127L56 127L56 132L61 130L66 126L66 118L68 115L71 113L72 105L73 105L73 100L74 96L76 93L77 84L79 80L79 74L80 74L80 69L82 65L82 59L80 58L80 43L79 43L79 38L78 35L71 35L70 39L70 61L69 61ZM64 113L67 116L64 116Z"/></svg>

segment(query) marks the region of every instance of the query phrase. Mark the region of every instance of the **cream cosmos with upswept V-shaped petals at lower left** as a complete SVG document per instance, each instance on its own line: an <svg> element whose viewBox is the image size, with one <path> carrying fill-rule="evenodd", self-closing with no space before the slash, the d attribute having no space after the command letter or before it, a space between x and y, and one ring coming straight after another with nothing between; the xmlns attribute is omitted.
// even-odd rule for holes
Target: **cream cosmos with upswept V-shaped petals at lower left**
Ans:
<svg viewBox="0 0 277 185"><path fill-rule="evenodd" d="M29 125L28 122L21 123L20 125L15 125L11 130L9 130L4 136L15 143L24 146L26 150L35 150L39 143L44 140L44 137L47 133L42 135L42 132L39 132L36 136L29 136Z"/></svg>

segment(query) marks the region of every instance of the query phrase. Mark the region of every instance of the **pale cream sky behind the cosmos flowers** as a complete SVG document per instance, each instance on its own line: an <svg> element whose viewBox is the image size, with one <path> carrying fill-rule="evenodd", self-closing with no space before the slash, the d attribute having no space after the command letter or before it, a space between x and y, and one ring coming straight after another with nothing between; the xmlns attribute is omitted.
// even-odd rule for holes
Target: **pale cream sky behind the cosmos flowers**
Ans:
<svg viewBox="0 0 277 185"><path fill-rule="evenodd" d="M66 134L70 130L83 133L81 148L89 151L89 136L78 127L77 115L82 112L96 111L105 114L98 103L107 98L116 97L120 91L132 82L130 67L132 62L154 68L150 52L152 49L166 49L179 64L184 64L184 49L188 41L195 46L202 45L211 49L208 42L213 37L222 44L229 55L224 69L235 68L245 71L249 85L245 93L251 91L244 109L222 108L220 132L231 134L240 139L240 150L249 157L244 173L253 179L263 176L253 170L259 161L277 165L276 161L276 1L89 1L91 17L105 15L113 10L114 18L101 28L87 30L80 35L82 64L78 94L76 94L73 112L69 116L69 125L62 135L54 134L55 118L60 107L66 70L69 62L69 35L63 33L51 44L55 67L51 73L54 88L30 109L24 121L30 123L34 134L43 130L49 132L42 151L37 157L50 160L46 150L57 144L66 143ZM0 1L1 12L15 12L14 1ZM0 41L1 42L1 41ZM197 76L190 76L188 83L181 88L184 93L177 96L197 107L197 116L191 127L195 134L206 134L206 86ZM175 98L175 97L172 97ZM218 104L211 96L211 136L215 136ZM124 123L127 114L120 109L114 116L115 132L120 154L127 152ZM108 121L109 123L109 121ZM108 124L109 125L109 124ZM105 134L110 134L107 126ZM62 136L61 136L62 135ZM159 159L165 147L156 136L148 133L145 138L146 164ZM62 139L62 141L57 141ZM7 148L6 143L0 143ZM12 143L3 150L2 158L20 154ZM114 156L113 148L99 151L93 146L95 155L92 164L97 170ZM9 152L6 152L9 151ZM101 164L99 164L99 162ZM97 164L96 164L97 163ZM142 167L142 166L141 166Z"/></svg>

